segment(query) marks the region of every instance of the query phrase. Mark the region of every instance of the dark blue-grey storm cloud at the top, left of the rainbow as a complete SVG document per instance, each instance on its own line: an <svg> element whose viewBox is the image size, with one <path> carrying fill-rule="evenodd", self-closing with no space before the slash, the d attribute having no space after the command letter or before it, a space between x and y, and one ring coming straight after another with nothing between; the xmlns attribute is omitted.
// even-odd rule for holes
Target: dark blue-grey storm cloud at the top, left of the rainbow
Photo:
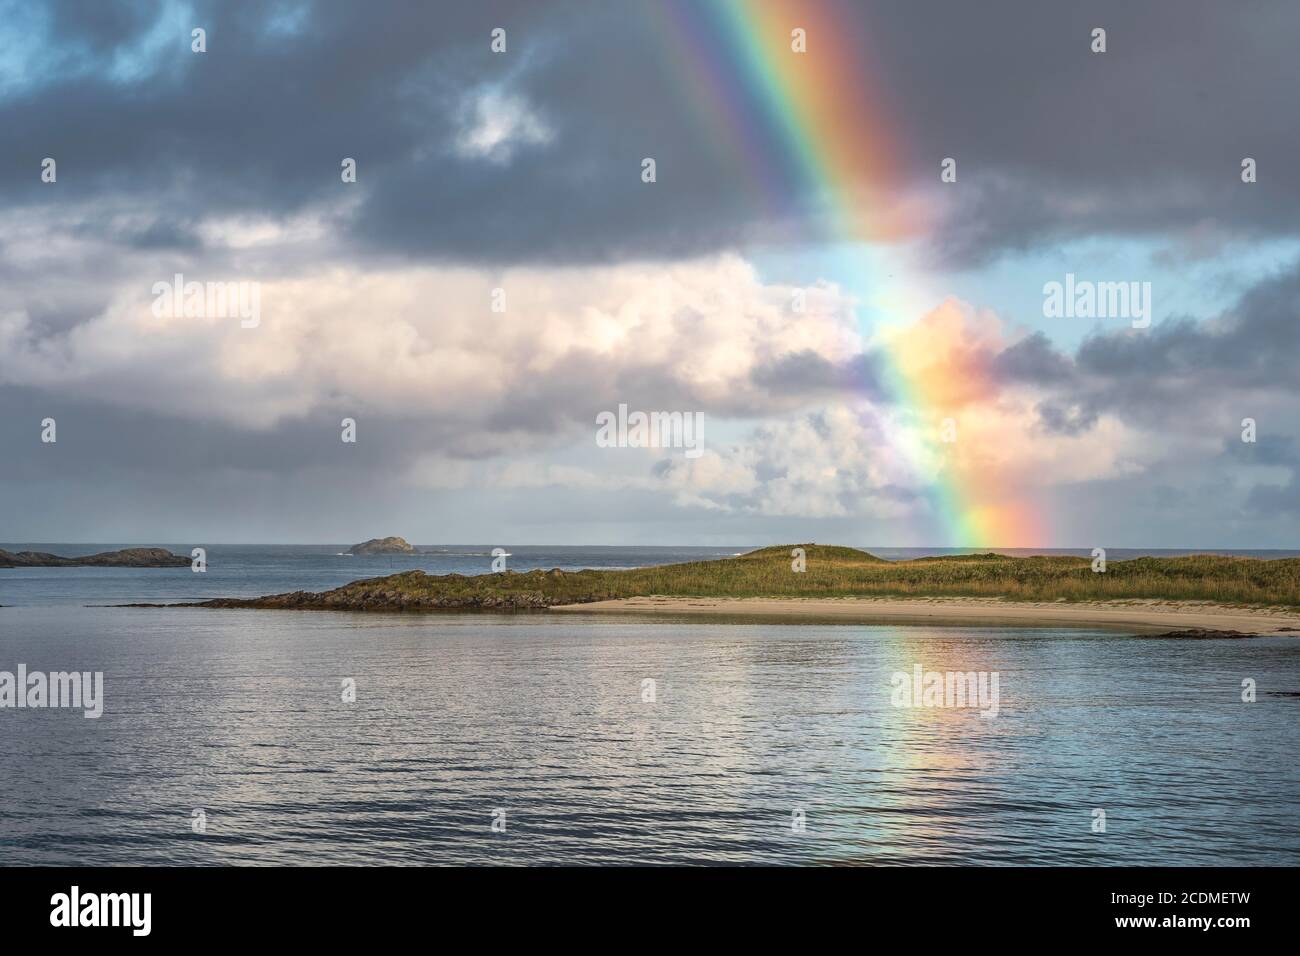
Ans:
<svg viewBox="0 0 1300 956"><path fill-rule="evenodd" d="M200 4L138 52L157 29L147 9L52 8L51 51L83 51L92 68L0 101L18 144L0 156L8 203L131 198L157 221L114 238L153 246L191 245L204 215L285 216L359 194L347 239L471 261L680 256L749 228L748 198L666 86L636 9L315 4L276 35L287 7ZM190 23L207 30L207 53L190 51ZM506 55L489 49L495 26ZM135 51L126 78L122 51ZM455 148L491 91L546 131L508 161ZM57 191L36 178L44 156L58 161ZM355 194L339 182L344 156ZM658 189L641 182L645 156Z"/></svg>

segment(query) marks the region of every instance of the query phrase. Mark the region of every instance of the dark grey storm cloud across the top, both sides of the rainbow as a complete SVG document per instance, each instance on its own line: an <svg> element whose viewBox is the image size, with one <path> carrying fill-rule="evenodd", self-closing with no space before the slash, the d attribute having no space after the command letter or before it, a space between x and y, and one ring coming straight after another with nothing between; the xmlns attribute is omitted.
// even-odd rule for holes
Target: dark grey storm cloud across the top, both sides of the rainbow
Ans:
<svg viewBox="0 0 1300 956"><path fill-rule="evenodd" d="M644 4L48 9L32 43L68 69L0 100L0 196L130 196L159 219L130 239L144 246L194 242L187 224L203 215L286 215L356 195L354 247L607 261L789 235L812 202L793 179L757 202L738 169L753 157L723 148L720 122L701 112L706 91L682 81L680 51ZM883 135L904 156L894 185L940 203L941 261L1070 235L1206 222L1273 234L1300 221L1300 177L1286 173L1300 153L1295 5L853 9L844 22L862 34ZM202 56L191 25L208 31ZM508 30L507 55L489 51L494 26ZM1106 53L1088 49L1095 26ZM458 153L473 96L493 87L547 138L498 161ZM1247 155L1260 161L1249 187ZM57 193L38 182L44 156L60 163ZM359 163L355 187L339 182L343 156ZM654 186L640 181L644 156L658 161ZM944 156L958 160L956 185L939 185Z"/></svg>

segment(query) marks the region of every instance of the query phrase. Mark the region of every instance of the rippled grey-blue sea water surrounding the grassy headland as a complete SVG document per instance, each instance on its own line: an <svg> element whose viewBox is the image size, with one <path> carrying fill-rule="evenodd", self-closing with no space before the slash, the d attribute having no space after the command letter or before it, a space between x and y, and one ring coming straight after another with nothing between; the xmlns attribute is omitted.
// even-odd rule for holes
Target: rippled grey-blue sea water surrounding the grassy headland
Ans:
<svg viewBox="0 0 1300 956"><path fill-rule="evenodd" d="M87 606L389 572L209 559L0 571L0 670L104 672L99 719L0 709L0 865L1300 862L1300 639ZM997 715L894 706L915 665L997 672Z"/></svg>

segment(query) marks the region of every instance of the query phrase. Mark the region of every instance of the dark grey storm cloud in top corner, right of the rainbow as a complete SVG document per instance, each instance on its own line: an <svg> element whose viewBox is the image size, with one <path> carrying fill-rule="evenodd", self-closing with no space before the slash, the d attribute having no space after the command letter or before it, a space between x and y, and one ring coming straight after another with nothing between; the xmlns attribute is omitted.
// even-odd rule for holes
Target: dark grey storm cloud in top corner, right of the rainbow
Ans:
<svg viewBox="0 0 1300 956"><path fill-rule="evenodd" d="M1097 233L1295 234L1294 4L1002 0L880 14L892 42L879 75L946 212L939 261ZM1089 49L1095 27L1105 53ZM944 156L958 161L954 185L937 183ZM1253 186L1240 181L1245 156L1260 164Z"/></svg>

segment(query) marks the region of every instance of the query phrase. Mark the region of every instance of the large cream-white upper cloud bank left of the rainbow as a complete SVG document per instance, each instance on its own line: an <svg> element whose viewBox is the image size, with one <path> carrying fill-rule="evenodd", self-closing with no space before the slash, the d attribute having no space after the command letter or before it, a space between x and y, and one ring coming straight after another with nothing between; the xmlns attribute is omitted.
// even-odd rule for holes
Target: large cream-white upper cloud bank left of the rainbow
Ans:
<svg viewBox="0 0 1300 956"><path fill-rule="evenodd" d="M234 247L263 245L256 228L220 229ZM792 355L846 365L858 347L846 299L828 294L831 307L794 321L790 290L734 256L504 272L329 263L261 278L176 265L186 281L259 282L257 328L155 316L153 284L173 281L172 268L147 272L156 261L138 255L134 277L70 325L4 313L0 384L251 429L318 414L433 420L462 432L452 450L481 455L523 434L571 436L620 402L731 416L796 407L801 390L758 369Z"/></svg>

